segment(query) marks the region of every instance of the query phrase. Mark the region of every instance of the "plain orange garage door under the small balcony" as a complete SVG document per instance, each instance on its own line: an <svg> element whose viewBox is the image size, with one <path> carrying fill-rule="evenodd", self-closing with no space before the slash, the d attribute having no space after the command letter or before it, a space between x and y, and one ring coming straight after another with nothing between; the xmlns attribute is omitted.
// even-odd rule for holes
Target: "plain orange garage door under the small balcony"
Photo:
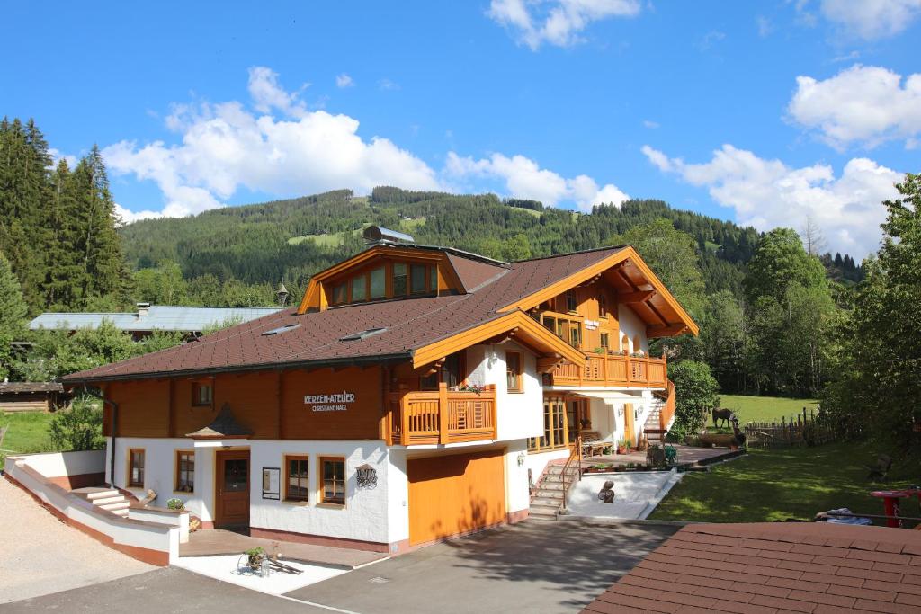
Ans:
<svg viewBox="0 0 921 614"><path fill-rule="evenodd" d="M506 520L503 451L410 459L409 541L419 544Z"/></svg>

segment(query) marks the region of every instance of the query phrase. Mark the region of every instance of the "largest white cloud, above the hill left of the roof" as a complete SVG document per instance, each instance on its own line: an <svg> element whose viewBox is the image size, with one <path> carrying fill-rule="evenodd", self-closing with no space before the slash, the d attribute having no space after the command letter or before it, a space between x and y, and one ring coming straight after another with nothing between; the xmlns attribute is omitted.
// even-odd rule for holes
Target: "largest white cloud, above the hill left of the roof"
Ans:
<svg viewBox="0 0 921 614"><path fill-rule="evenodd" d="M265 114L239 102L177 105L167 123L181 133L180 144L122 141L103 150L113 173L153 180L163 192L164 209L145 215L198 214L222 206L240 188L285 195L344 187L370 191L376 185L440 187L418 157L386 138L359 136L357 120L307 110L297 94L278 85L273 71L251 69L249 90L253 107Z"/></svg>

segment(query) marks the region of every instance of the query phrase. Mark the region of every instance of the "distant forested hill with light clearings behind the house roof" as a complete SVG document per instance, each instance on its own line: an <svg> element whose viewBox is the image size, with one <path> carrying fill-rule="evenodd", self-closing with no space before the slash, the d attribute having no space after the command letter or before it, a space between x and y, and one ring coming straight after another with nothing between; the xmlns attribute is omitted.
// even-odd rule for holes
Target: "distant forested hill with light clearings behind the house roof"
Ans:
<svg viewBox="0 0 921 614"><path fill-rule="evenodd" d="M239 280L302 289L309 276L362 249L361 230L378 224L412 234L420 243L449 245L486 256L520 260L604 245L659 218L692 235L708 289L740 292L744 263L758 233L660 201L600 206L591 214L501 201L493 194L453 195L377 188L230 207L190 218L137 222L120 230L134 269L176 262L193 287Z"/></svg>

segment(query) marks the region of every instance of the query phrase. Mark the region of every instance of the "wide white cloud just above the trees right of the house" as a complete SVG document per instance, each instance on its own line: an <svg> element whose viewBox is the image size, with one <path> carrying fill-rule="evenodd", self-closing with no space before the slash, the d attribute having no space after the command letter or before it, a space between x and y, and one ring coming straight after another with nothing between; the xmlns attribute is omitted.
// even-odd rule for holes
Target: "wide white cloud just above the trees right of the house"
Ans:
<svg viewBox="0 0 921 614"><path fill-rule="evenodd" d="M857 258L877 249L885 218L881 203L897 196L893 185L904 178L865 157L851 159L835 177L828 165L789 168L732 145L723 145L703 164L688 164L648 145L643 153L660 170L706 188L714 201L732 207L740 224L799 228L810 216L832 251Z"/></svg>

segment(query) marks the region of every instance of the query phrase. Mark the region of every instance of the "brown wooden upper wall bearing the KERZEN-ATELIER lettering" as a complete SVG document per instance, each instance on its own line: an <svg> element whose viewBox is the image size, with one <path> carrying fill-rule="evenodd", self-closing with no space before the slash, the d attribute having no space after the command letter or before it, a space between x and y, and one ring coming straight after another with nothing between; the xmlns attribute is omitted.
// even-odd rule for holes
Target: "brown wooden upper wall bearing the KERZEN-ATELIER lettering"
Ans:
<svg viewBox="0 0 921 614"><path fill-rule="evenodd" d="M209 384L211 406L192 406L192 383ZM252 439L379 439L383 416L381 369L349 367L260 371L215 377L112 382L106 397L118 404L118 436L183 437L207 426L225 405ZM352 392L345 411L311 411L307 394ZM111 434L106 404L104 433Z"/></svg>

